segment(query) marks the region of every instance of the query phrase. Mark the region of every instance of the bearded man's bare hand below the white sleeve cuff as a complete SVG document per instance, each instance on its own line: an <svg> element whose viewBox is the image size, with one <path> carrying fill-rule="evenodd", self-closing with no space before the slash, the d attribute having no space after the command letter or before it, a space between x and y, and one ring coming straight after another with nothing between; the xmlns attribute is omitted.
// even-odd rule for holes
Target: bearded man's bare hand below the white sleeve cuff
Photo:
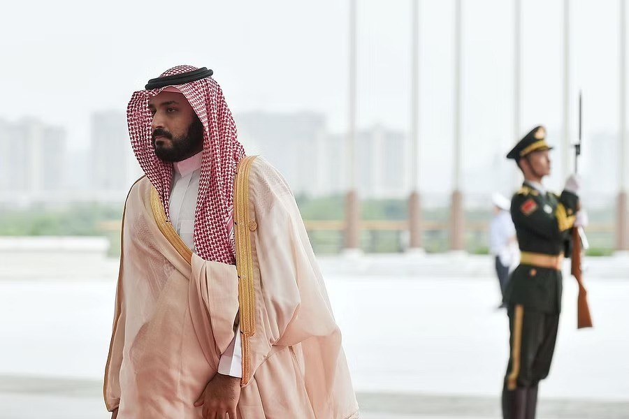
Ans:
<svg viewBox="0 0 629 419"><path fill-rule="evenodd" d="M203 406L203 419L236 419L240 398L240 378L216 374L198 397L194 406Z"/></svg>

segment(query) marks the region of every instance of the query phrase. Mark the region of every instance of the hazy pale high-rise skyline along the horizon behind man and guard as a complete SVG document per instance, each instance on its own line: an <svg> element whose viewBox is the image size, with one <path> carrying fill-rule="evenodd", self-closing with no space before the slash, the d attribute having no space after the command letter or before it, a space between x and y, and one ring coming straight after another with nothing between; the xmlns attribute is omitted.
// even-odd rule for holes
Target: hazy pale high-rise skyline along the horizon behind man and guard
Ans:
<svg viewBox="0 0 629 419"><path fill-rule="evenodd" d="M345 168L344 136L329 131L325 115L320 112L243 112L236 114L239 138L249 154L262 154L287 177L291 188L296 194L306 196L331 196L342 194L346 189L347 172ZM34 117L24 117L15 122L0 119L3 135L0 135L0 149L3 150L0 191L15 191L10 185L19 186L11 170L34 167L41 161L45 148L36 152L36 161L26 159L27 163L17 164L20 159L13 158L8 147L15 143L26 143L15 140L8 133L50 132L57 133L56 145L48 144L56 154L49 168L39 165L38 184L61 182L56 185L61 191L98 191L106 200L116 200L122 196L129 185L141 175L141 170L131 152L131 145L126 131L126 116L117 110L94 112L90 116L91 135L90 148L75 150L65 147L66 130L60 126L48 126ZM17 131L16 131L17 130ZM21 131L20 131L21 130ZM386 126L372 126L361 129L357 133L361 148L358 161L361 166L359 195L361 198L405 198L410 189L408 156L409 136ZM560 145L559 133L549 132L551 144ZM38 135L34 144L43 145ZM32 142L32 141L31 141ZM29 142L29 144L31 144ZM584 144L581 157L581 172L584 173L585 199L593 205L602 205L616 191L616 166L610 165L616 156L616 134L609 132L595 133L593 138ZM22 145L22 148L24 146ZM29 145L29 147L33 147ZM19 147L18 147L19 148ZM20 148L21 149L21 148ZM17 150L19 152L19 149ZM31 153L32 154L32 153ZM25 154L24 154L25 155ZM17 154L22 156L22 154ZM289 158L287 158L289 157ZM552 154L553 167L561 166L561 153ZM21 159L24 159L22 157ZM4 163L4 162L9 163ZM112 162L117 162L115 170L110 169ZM13 164L13 166L11 166ZM17 166L15 166L17 164ZM15 168L14 168L15 166ZM447 165L446 165L447 166ZM18 170L19 171L19 170ZM422 173L421 191L427 195L426 205L447 205L444 196L450 192L445 179L447 168L433 175L420 168ZM20 172L22 173L22 172ZM25 172L24 172L25 173ZM588 176L596 174L597 176ZM434 176L437 175L437 176ZM483 200L493 191L509 196L516 189L519 176L512 162L507 161L498 149L479 159L466 160L463 167L463 191L466 206L482 206ZM27 175L19 175L26 178ZM57 179L57 181L54 181ZM62 179L59 181L59 179ZM553 175L547 179L551 189L561 189L562 179ZM17 189L29 193L51 192L55 189L19 186ZM122 199L120 198L120 199ZM430 202L433 200L434 202ZM600 202L602 200L602 202Z"/></svg>

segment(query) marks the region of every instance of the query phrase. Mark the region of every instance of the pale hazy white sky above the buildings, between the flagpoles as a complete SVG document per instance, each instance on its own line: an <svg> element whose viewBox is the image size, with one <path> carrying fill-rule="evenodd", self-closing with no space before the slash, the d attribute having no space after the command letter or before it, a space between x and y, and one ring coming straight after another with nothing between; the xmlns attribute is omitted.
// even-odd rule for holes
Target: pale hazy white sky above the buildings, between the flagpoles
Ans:
<svg viewBox="0 0 629 419"><path fill-rule="evenodd" d="M521 131L561 133L562 0L522 0ZM572 103L585 133L619 122L619 0L572 1ZM360 127L410 126L410 0L359 0ZM41 117L86 147L89 114L177 64L208 66L233 112L318 110L347 125L349 1L88 1L3 5L0 116ZM463 0L464 165L504 154L512 134L512 1ZM451 175L454 1L422 0L421 178ZM576 115L573 112L574 131ZM559 143L561 138L550 138ZM505 162L505 164L507 164Z"/></svg>

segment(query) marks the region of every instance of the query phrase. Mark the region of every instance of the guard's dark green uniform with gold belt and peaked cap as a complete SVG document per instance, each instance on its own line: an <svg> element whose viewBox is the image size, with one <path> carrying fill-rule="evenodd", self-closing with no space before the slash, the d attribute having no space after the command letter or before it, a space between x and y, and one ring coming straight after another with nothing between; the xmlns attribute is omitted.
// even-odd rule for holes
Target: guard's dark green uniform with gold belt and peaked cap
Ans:
<svg viewBox="0 0 629 419"><path fill-rule="evenodd" d="M543 127L528 133L507 158L551 149ZM548 193L525 182L511 203L521 251L504 303L509 315L509 363L503 388L503 418L535 418L537 383L546 378L553 358L561 312L561 266L574 226L579 198L570 191Z"/></svg>

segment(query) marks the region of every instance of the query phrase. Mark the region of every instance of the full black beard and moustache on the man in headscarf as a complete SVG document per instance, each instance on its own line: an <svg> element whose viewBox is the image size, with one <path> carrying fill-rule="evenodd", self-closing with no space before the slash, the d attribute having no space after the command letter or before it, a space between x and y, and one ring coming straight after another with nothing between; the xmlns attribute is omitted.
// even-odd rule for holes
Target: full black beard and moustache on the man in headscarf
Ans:
<svg viewBox="0 0 629 419"><path fill-rule="evenodd" d="M168 140L171 140L171 145L156 144L155 137L157 136L168 138ZM194 115L194 119L188 126L188 132L185 135L173 137L173 134L165 129L156 128L152 133L151 140L155 155L159 159L168 162L182 161L203 150L203 124Z"/></svg>

